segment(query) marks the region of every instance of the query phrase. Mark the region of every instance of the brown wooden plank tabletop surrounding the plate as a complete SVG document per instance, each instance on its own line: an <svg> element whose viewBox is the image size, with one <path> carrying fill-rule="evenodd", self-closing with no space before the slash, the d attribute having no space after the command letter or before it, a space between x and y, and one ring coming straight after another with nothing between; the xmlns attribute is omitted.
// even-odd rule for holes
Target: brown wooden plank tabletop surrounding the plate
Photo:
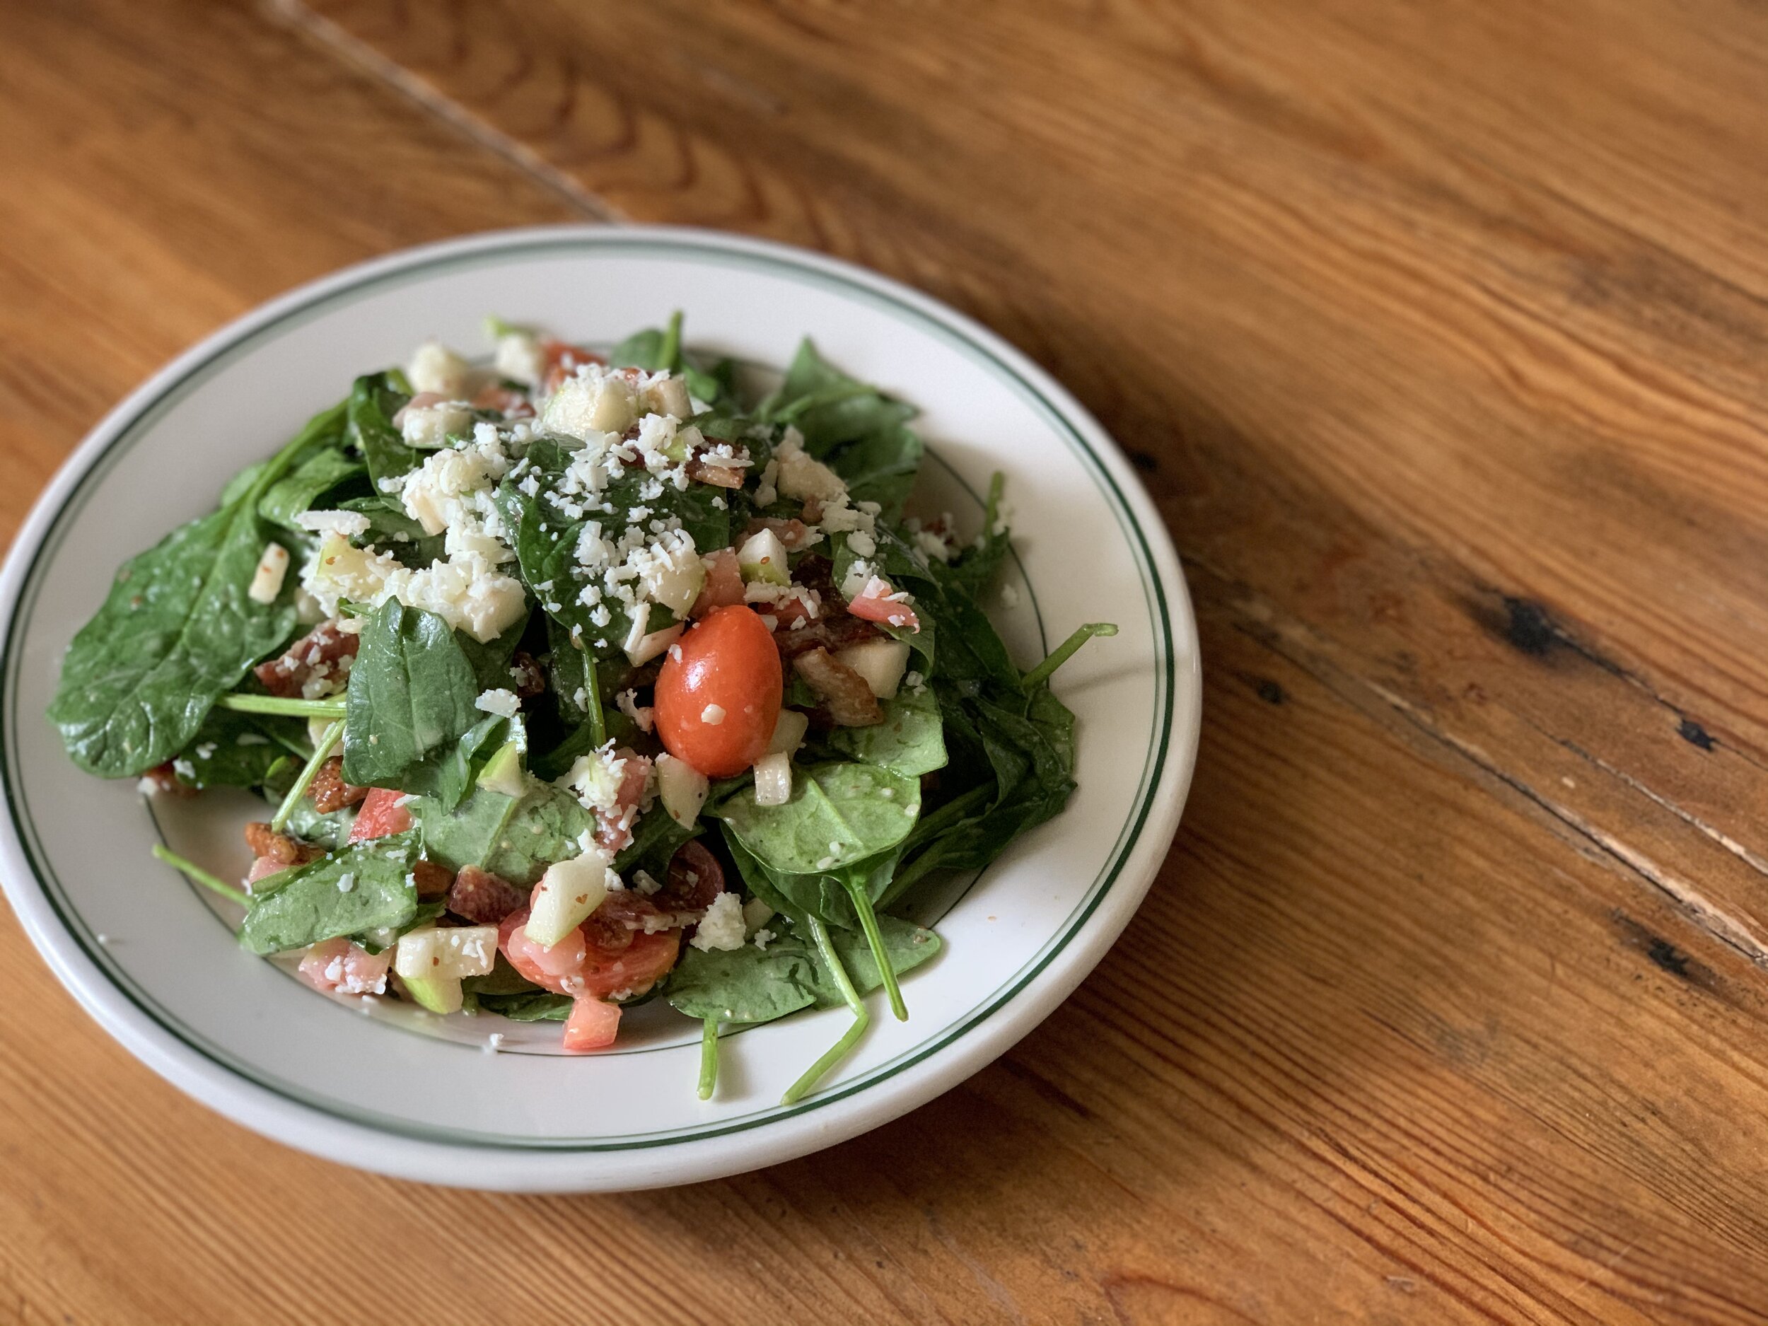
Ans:
<svg viewBox="0 0 1768 1326"><path fill-rule="evenodd" d="M951 301L1202 622L1155 891L918 1114L629 1197L187 1101L0 926L0 1319L1768 1319L1768 11L12 0L0 520L339 263L564 219Z"/></svg>

